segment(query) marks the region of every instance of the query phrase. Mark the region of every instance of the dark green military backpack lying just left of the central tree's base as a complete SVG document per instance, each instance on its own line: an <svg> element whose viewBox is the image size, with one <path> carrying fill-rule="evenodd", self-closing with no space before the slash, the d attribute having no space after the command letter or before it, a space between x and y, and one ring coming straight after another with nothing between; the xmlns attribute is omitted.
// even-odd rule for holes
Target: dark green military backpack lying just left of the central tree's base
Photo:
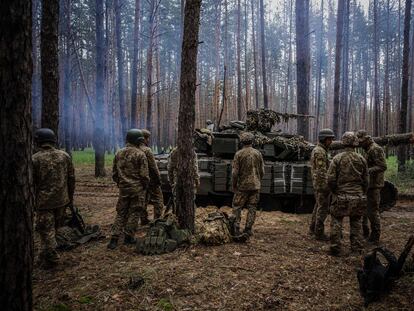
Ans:
<svg viewBox="0 0 414 311"><path fill-rule="evenodd" d="M158 255L174 251L189 243L191 234L178 228L174 218L156 219L151 222L144 239L138 240L137 252L143 255Z"/></svg>

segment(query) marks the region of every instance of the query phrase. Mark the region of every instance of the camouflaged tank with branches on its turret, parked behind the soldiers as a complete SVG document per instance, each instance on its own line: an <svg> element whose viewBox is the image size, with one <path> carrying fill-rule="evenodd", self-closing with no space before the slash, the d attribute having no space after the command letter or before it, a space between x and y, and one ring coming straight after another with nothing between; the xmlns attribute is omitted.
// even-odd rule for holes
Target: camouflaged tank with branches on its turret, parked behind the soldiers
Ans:
<svg viewBox="0 0 414 311"><path fill-rule="evenodd" d="M194 146L198 158L200 186L196 203L201 206L231 205L231 162L241 147L240 132L250 131L255 135L253 146L262 153L265 162L259 208L295 213L311 212L315 199L309 159L315 145L299 135L271 131L281 120L298 117L308 116L262 109L249 111L246 122L230 122L229 125L220 127L218 132L197 129L194 133ZM412 134L409 133L378 137L374 140L381 145L413 143ZM332 146L334 150L342 148L339 141L335 141ZM156 160L162 177L164 197L168 200L171 196L167 178L168 154L157 155ZM381 193L381 209L388 210L394 206L397 195L396 187L386 181Z"/></svg>

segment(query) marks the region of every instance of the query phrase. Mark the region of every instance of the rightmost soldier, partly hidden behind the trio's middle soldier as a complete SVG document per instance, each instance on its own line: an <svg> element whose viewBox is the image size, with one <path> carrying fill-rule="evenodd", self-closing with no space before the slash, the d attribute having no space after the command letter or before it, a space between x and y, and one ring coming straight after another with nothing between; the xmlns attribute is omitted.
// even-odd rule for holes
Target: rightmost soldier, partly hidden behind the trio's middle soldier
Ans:
<svg viewBox="0 0 414 311"><path fill-rule="evenodd" d="M369 187L367 193L367 215L363 218L364 237L373 244L378 244L381 235L381 221L379 204L381 189L384 187L384 172L387 170L384 150L378 146L365 130L357 133L359 143L365 150L365 159L369 171ZM371 235L369 234L368 219L371 223Z"/></svg>

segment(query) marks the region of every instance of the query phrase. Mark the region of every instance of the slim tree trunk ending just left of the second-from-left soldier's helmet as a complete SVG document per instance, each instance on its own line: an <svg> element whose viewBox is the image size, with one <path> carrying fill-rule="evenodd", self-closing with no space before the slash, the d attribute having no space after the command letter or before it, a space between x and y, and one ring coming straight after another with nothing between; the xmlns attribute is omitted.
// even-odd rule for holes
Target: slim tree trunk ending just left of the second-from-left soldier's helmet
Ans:
<svg viewBox="0 0 414 311"><path fill-rule="evenodd" d="M122 47L122 21L121 5L119 0L114 0L115 7L115 32L116 32L116 59L118 65L118 96L119 114L121 122L121 136L125 137L128 130L128 114L125 100L125 81L124 81L124 57Z"/></svg>

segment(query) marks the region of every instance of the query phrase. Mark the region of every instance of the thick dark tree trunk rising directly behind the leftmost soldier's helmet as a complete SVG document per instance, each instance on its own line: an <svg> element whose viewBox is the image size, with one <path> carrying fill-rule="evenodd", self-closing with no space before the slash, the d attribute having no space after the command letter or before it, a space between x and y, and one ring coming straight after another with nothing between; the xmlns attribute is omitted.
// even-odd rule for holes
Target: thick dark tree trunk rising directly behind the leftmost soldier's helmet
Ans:
<svg viewBox="0 0 414 311"><path fill-rule="evenodd" d="M42 1L41 24L42 127L59 131L59 1Z"/></svg>

